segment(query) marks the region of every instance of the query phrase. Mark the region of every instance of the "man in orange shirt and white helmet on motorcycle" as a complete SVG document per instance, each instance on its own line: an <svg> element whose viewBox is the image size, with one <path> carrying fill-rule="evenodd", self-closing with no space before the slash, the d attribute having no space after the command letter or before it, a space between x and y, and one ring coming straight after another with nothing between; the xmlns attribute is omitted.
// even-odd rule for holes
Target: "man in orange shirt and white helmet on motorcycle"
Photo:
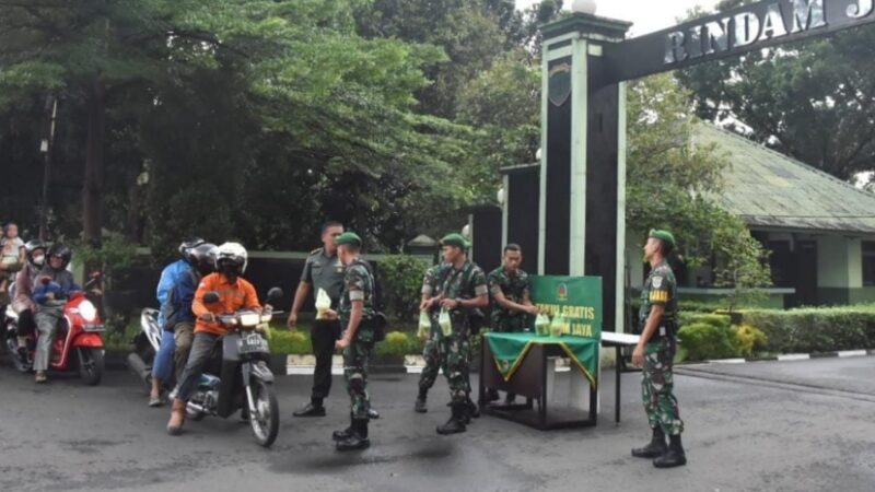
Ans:
<svg viewBox="0 0 875 492"><path fill-rule="evenodd" d="M246 248L237 243L225 243L219 246L215 256L215 273L203 278L195 293L191 311L197 316L195 340L188 363L176 387L176 399L173 401L167 433L178 435L183 430L187 401L197 389L203 366L217 342L228 333L229 328L218 323L218 315L231 314L242 308L260 309L258 295L252 283L241 276L246 271ZM219 302L205 304L203 296L209 292L219 294Z"/></svg>

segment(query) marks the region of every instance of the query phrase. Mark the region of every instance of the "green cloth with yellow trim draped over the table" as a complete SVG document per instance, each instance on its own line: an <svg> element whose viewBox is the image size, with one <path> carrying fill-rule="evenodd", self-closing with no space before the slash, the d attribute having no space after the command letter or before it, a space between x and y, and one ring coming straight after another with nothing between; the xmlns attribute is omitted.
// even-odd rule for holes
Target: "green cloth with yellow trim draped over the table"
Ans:
<svg viewBox="0 0 875 492"><path fill-rule="evenodd" d="M511 380L516 370L536 343L558 344L568 355L571 364L597 387L598 340L583 337L542 337L535 333L486 333L486 341L495 361L495 368L504 380Z"/></svg>

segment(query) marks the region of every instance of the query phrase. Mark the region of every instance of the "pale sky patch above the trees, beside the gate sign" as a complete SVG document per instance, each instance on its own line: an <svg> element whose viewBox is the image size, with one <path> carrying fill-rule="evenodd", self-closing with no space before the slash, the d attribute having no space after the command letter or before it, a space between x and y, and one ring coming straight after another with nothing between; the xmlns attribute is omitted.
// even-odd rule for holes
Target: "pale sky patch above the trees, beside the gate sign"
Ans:
<svg viewBox="0 0 875 492"><path fill-rule="evenodd" d="M524 9L539 0L516 0L516 8ZM684 17L689 9L696 5L711 10L718 0L596 0L596 15L633 22L631 33L634 36L652 33L677 25L677 19ZM564 1L565 9L571 0Z"/></svg>

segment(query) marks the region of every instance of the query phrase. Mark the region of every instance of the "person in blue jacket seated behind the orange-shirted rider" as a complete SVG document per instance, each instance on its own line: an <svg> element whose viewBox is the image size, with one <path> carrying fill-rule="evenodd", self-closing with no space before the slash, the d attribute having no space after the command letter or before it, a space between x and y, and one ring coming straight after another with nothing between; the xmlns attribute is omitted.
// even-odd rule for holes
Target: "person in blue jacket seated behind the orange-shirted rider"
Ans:
<svg viewBox="0 0 875 492"><path fill-rule="evenodd" d="M192 246L195 244L197 245ZM178 378L188 360L195 329L191 301L200 279L212 272L213 258L210 255L214 249L214 244L205 243L203 239L185 242L179 245L183 259L168 265L161 274L158 296L163 301L159 324L164 332L152 366L150 407L160 407L163 403L161 385L171 380L174 366Z"/></svg>

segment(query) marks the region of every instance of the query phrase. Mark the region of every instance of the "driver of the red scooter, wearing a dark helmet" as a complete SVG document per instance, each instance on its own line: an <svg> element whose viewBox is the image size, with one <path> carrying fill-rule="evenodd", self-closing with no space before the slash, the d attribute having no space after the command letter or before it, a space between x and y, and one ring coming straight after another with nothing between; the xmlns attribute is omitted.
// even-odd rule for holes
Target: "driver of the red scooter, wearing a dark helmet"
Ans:
<svg viewBox="0 0 875 492"><path fill-rule="evenodd" d="M34 280L34 303L36 311L34 320L39 337L36 341L34 370L36 383L46 383L46 371L51 356L51 343L58 329L58 321L63 316L63 302L75 291L82 289L73 281L73 274L67 270L73 253L63 244L56 243L48 250L48 265L43 267Z"/></svg>

